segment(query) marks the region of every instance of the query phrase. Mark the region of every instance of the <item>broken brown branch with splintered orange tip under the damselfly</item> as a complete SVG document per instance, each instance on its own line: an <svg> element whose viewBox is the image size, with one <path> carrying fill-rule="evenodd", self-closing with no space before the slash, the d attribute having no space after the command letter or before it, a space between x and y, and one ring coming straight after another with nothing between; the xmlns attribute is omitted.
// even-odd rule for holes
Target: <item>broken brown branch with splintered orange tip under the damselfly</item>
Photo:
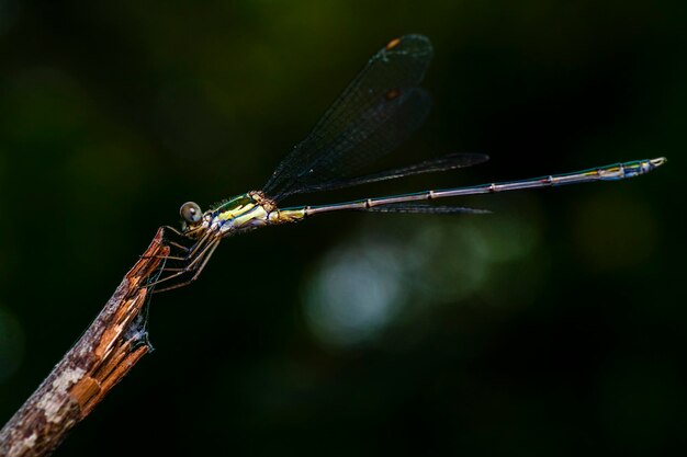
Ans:
<svg viewBox="0 0 687 457"><path fill-rule="evenodd" d="M49 455L150 351L145 279L168 253L160 228L81 339L2 427L0 456Z"/></svg>

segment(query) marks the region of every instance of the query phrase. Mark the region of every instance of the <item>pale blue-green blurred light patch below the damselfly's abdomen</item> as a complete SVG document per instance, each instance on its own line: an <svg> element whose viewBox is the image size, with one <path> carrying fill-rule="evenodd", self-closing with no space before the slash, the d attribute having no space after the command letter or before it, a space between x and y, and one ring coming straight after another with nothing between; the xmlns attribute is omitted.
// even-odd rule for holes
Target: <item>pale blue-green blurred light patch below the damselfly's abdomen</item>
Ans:
<svg viewBox="0 0 687 457"><path fill-rule="evenodd" d="M436 306L509 304L503 265L518 269L513 289L540 282L527 261L539 238L531 220L507 216L370 222L316 265L303 295L308 325L326 345L359 346Z"/></svg>

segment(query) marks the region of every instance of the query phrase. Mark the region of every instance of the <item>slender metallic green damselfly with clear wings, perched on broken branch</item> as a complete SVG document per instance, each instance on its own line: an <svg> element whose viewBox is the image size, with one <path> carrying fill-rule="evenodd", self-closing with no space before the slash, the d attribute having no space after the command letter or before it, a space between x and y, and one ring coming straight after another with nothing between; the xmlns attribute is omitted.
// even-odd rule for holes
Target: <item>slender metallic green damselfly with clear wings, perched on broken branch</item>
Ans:
<svg viewBox="0 0 687 457"><path fill-rule="evenodd" d="M309 216L339 210L376 213L459 214L488 213L460 206L439 206L429 201L460 195L486 194L523 188L549 187L592 181L622 180L647 173L665 158L597 167L585 171L521 181L482 184L362 198L318 206L280 207L292 195L349 187L419 173L453 170L488 159L480 153L453 153L409 167L373 174L361 170L406 140L425 121L431 106L427 91L419 87L432 56L432 46L423 35L391 41L368 61L309 135L282 160L260 191L228 198L203 212L193 202L181 206L181 231L168 229L181 240L169 241L180 251L167 260L159 279L169 290L192 283L203 271L222 239L264 226L301 221Z"/></svg>

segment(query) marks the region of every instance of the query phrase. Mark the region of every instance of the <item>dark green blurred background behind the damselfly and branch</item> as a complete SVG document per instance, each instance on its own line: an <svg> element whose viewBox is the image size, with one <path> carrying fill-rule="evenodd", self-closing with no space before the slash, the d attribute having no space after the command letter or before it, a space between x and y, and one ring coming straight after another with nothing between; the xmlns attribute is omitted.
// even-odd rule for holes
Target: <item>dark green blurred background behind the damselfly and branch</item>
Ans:
<svg viewBox="0 0 687 457"><path fill-rule="evenodd" d="M492 160L290 203L669 163L459 202L488 216L226 240L55 455L684 446L685 23L682 1L0 0L0 423L181 203L260 187L374 52L424 33L436 106L394 163Z"/></svg>

